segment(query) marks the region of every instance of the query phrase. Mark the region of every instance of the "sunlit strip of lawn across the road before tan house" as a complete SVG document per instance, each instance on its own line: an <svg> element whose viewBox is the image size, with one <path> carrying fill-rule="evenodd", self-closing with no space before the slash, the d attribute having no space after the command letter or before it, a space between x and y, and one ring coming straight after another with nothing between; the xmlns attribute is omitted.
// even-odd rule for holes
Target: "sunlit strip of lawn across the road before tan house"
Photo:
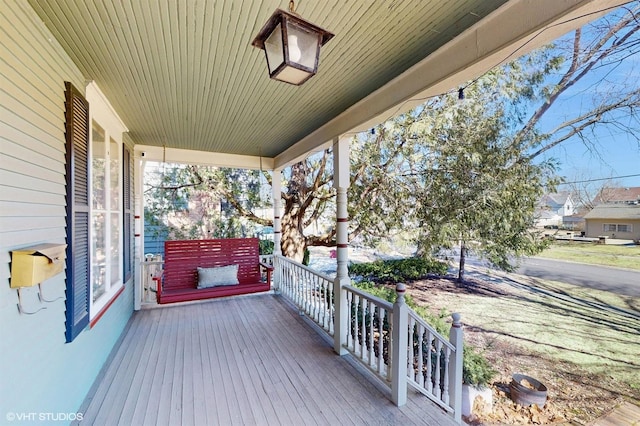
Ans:
<svg viewBox="0 0 640 426"><path fill-rule="evenodd" d="M556 242L538 256L640 271L640 246L637 245Z"/></svg>

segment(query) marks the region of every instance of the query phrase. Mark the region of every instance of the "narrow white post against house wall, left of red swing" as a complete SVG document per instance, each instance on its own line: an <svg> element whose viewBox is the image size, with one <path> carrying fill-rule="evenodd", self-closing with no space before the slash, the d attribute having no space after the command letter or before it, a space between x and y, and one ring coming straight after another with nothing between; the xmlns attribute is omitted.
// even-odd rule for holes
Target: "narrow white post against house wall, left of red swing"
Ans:
<svg viewBox="0 0 640 426"><path fill-rule="evenodd" d="M134 213L133 213L133 262L135 273L133 274L133 309L139 311L142 305L142 295L144 291L142 277L142 259L144 259L144 198L143 177L145 161L139 151L133 154L133 182L134 182Z"/></svg>

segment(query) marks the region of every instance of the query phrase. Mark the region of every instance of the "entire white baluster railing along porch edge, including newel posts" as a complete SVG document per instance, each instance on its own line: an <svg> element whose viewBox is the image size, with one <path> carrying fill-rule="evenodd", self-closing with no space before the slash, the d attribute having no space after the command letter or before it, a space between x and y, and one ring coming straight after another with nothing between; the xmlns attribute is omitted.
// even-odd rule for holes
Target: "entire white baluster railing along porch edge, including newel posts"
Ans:
<svg viewBox="0 0 640 426"><path fill-rule="evenodd" d="M334 280L298 262L274 256L274 285L331 336L341 327L342 342L354 358L391 388L393 402L404 405L407 387L423 393L461 422L462 323L453 314L449 338L440 335L410 309L405 286L396 287L394 304L351 285L334 297ZM344 324L334 324L336 301L343 300Z"/></svg>

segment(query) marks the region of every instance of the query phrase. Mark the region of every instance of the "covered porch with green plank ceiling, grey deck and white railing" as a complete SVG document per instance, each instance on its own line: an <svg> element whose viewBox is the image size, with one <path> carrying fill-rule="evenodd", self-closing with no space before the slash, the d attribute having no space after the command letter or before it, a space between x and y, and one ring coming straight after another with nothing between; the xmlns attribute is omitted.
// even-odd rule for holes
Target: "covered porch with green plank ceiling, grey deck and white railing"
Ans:
<svg viewBox="0 0 640 426"><path fill-rule="evenodd" d="M92 383L86 424L447 424L438 401L459 416L449 342L350 286L349 141L624 1L305 1L299 13L336 37L301 87L270 80L251 47L286 3L3 3L0 418L76 415ZM274 282L333 344L271 295L140 309L145 162L272 172L277 248L282 171L329 147L337 279L276 256ZM67 247L46 297L11 287L12 252L45 243ZM398 353L383 346L392 334ZM407 372L409 342L426 377ZM397 408L387 393L402 405L407 385L435 395L410 390Z"/></svg>

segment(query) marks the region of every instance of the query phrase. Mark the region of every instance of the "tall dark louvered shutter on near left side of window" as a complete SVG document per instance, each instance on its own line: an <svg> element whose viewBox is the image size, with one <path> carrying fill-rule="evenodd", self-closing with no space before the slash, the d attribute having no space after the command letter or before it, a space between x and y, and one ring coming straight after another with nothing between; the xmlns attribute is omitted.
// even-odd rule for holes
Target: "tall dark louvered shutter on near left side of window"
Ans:
<svg viewBox="0 0 640 426"><path fill-rule="evenodd" d="M67 343L89 324L89 103L65 85L67 184Z"/></svg>

